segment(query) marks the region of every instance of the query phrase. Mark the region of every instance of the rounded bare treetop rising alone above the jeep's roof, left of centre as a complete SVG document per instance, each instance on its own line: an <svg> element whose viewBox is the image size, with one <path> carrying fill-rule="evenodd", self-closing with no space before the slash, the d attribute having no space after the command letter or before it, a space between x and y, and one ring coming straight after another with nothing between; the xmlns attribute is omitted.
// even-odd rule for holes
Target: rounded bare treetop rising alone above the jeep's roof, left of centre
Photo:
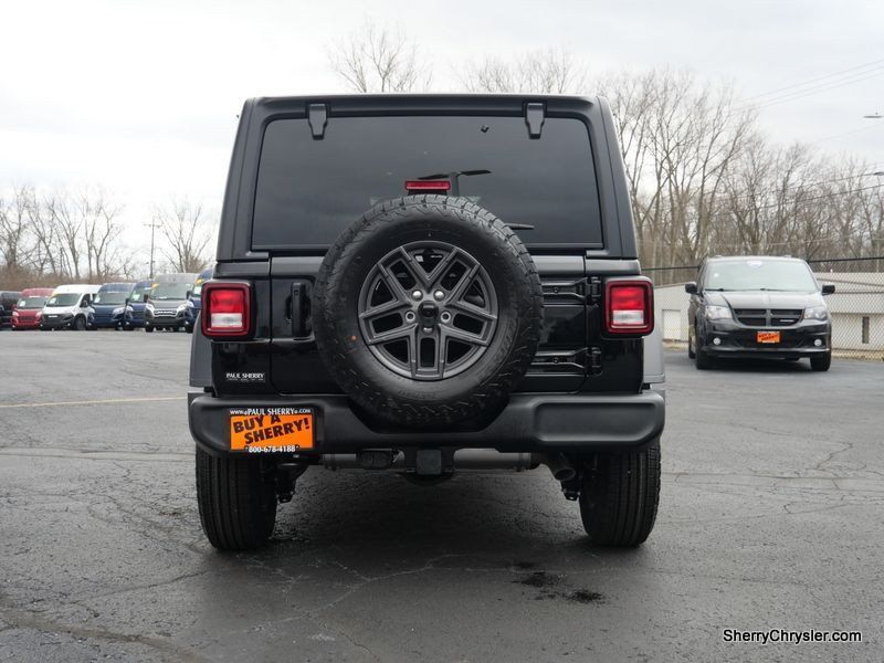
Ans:
<svg viewBox="0 0 884 663"><path fill-rule="evenodd" d="M430 87L432 67L415 41L399 29L367 22L327 53L329 64L352 92L423 92Z"/></svg>

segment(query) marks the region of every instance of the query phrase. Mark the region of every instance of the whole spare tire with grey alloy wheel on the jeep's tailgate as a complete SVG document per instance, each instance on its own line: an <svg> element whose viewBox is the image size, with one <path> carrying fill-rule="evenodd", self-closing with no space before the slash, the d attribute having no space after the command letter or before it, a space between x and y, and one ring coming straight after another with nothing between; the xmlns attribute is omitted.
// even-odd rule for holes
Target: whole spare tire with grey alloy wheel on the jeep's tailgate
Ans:
<svg viewBox="0 0 884 663"><path fill-rule="evenodd" d="M337 239L312 307L338 386L380 421L432 428L506 400L537 351L543 291L518 235L490 211L407 196Z"/></svg>

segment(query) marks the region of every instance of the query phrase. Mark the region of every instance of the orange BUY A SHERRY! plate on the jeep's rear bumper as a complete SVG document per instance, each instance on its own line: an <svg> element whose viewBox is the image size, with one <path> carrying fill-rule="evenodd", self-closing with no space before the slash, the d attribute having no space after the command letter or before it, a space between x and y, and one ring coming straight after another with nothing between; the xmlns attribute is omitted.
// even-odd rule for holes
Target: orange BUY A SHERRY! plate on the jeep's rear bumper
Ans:
<svg viewBox="0 0 884 663"><path fill-rule="evenodd" d="M230 411L230 449L246 452L298 452L313 449L313 410L242 408Z"/></svg>

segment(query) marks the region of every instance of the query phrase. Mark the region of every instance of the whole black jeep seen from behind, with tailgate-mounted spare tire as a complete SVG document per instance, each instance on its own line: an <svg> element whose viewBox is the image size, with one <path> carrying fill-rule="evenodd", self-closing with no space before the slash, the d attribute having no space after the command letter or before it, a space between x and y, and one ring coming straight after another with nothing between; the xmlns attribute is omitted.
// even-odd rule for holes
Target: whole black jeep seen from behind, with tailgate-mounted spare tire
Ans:
<svg viewBox="0 0 884 663"><path fill-rule="evenodd" d="M546 466L593 543L644 541L664 400L635 256L604 99L249 101L191 356L211 544L264 544L323 466Z"/></svg>

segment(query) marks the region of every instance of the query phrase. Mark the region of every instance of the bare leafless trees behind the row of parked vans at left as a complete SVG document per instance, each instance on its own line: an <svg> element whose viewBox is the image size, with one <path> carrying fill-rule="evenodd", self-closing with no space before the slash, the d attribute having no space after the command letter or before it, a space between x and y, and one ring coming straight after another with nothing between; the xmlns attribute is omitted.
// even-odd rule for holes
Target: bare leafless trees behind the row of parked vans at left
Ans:
<svg viewBox="0 0 884 663"><path fill-rule="evenodd" d="M0 286L107 283L148 276L145 255L126 248L123 206L99 187L42 193L31 185L0 196ZM201 204L175 200L154 209L156 271L197 272L217 223ZM149 236L149 234L148 234Z"/></svg>

